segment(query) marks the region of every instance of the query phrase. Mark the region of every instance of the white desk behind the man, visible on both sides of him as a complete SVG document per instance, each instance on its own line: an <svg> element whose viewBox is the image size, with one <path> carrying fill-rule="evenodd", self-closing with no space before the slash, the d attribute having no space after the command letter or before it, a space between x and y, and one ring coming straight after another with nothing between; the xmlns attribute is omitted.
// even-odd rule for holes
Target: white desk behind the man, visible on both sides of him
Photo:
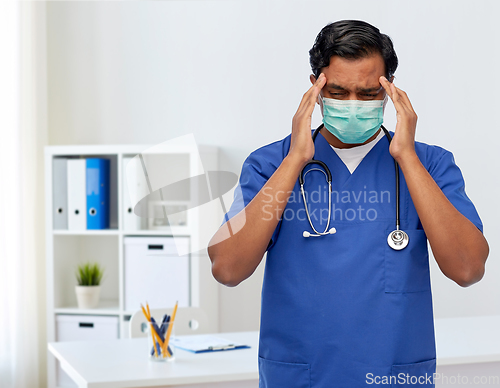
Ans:
<svg viewBox="0 0 500 388"><path fill-rule="evenodd" d="M500 316L436 319L435 328L443 381L458 374L468 375L469 382L500 375ZM258 332L217 335L251 348L202 354L179 349L174 362L149 361L145 338L50 343L49 350L80 387L258 387Z"/></svg>

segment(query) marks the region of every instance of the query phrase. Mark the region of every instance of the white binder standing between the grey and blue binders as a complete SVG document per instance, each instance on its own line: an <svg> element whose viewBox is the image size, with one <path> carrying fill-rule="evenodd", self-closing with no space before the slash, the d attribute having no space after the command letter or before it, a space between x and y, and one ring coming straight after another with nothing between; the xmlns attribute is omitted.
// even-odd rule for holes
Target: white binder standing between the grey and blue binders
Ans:
<svg viewBox="0 0 500 388"><path fill-rule="evenodd" d="M68 159L66 182L69 230L87 229L86 167L85 159Z"/></svg>

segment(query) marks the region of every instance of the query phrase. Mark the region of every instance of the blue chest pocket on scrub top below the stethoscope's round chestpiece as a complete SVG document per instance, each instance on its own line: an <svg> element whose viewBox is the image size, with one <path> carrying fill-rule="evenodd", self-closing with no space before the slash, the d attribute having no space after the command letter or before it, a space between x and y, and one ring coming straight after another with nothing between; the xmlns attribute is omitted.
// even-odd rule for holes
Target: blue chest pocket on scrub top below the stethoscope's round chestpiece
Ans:
<svg viewBox="0 0 500 388"><path fill-rule="evenodd" d="M386 230L386 236L391 230ZM396 251L385 247L385 292L405 293L430 291L429 252L422 229L406 230L410 242Z"/></svg>

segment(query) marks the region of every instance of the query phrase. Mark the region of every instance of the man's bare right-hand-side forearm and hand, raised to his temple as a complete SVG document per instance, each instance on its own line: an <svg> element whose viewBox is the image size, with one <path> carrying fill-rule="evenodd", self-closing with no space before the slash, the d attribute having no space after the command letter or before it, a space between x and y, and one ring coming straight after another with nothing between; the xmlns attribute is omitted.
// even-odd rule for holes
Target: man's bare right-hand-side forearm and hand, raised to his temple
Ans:
<svg viewBox="0 0 500 388"><path fill-rule="evenodd" d="M417 115L406 93L385 77L379 80L391 97L398 118L389 150L401 167L436 262L448 278L462 287L470 286L483 277L488 243L479 229L453 206L420 162L415 152Z"/></svg>

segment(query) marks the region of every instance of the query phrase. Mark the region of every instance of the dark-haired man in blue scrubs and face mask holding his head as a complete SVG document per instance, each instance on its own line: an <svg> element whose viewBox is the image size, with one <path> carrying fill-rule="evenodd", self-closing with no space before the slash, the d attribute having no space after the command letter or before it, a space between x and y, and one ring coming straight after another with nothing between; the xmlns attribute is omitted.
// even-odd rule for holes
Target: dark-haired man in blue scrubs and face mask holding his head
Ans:
<svg viewBox="0 0 500 388"><path fill-rule="evenodd" d="M267 251L259 344L261 388L434 386L427 240L462 287L484 274L488 244L453 155L415 142L417 115L394 85L391 39L362 22L324 27L309 52L312 86L291 134L245 160L234 203L208 248L214 277L236 286ZM385 104L397 111L392 142ZM316 104L323 127L315 142ZM332 174L331 212L325 174ZM396 171L401 229L392 249ZM298 177L306 166L306 203ZM315 229L336 233L305 237ZM329 224L328 224L329 222ZM327 227L327 225L329 225ZM306 233L304 233L306 232Z"/></svg>

